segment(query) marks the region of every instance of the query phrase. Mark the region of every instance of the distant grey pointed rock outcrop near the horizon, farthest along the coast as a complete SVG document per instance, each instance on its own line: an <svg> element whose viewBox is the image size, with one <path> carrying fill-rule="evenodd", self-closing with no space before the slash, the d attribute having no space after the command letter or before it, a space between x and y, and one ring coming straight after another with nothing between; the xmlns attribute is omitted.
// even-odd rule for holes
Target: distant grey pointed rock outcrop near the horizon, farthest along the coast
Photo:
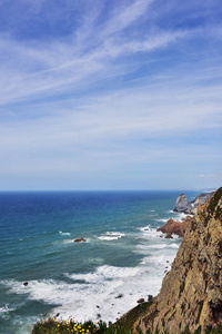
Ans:
<svg viewBox="0 0 222 334"><path fill-rule="evenodd" d="M188 215L194 215L194 214L196 214L198 206L204 205L213 196L214 193L215 191L199 194L198 197L195 197L191 202L188 200L188 198L184 194L181 194L176 198L173 212L184 213Z"/></svg>

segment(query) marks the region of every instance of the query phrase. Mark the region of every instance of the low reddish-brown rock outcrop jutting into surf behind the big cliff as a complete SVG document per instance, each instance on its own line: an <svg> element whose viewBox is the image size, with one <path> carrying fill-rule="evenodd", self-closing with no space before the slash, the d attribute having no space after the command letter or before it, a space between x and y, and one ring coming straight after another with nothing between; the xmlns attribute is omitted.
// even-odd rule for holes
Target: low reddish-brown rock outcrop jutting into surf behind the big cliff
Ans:
<svg viewBox="0 0 222 334"><path fill-rule="evenodd" d="M157 230L165 233L165 237L172 237L172 234L179 235L179 237L183 237L185 234L185 229L188 225L193 220L193 217L185 217L182 222L175 222L173 218L170 218L165 225L159 227Z"/></svg>

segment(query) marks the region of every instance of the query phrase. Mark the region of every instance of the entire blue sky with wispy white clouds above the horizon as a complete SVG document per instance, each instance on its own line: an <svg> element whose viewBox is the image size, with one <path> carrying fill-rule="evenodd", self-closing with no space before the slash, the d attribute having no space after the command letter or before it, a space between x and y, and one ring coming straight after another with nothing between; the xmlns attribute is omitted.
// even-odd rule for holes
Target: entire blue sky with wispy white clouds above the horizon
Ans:
<svg viewBox="0 0 222 334"><path fill-rule="evenodd" d="M0 190L222 185L221 0L0 0Z"/></svg>

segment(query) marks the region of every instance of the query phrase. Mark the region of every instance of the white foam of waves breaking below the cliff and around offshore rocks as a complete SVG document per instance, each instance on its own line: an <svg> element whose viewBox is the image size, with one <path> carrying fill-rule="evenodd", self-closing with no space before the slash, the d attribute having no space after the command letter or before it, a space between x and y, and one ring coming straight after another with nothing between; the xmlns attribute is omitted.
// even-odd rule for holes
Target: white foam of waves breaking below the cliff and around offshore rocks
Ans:
<svg viewBox="0 0 222 334"><path fill-rule="evenodd" d="M139 298L148 299L148 295L157 295L160 291L164 272L170 269L179 244L175 239L160 238L162 233L149 225L139 228L134 252L143 256L137 267L117 267L101 265L90 273L67 273L63 281L30 281L28 286L22 282L10 279L3 282L8 293L23 294L26 298L56 306L51 315L77 321L112 321L114 322L130 308L137 306ZM120 232L107 232L98 238L120 238ZM73 239L63 240L73 244ZM77 243L78 244L78 243ZM69 282L67 282L69 278ZM1 282L2 283L2 282Z"/></svg>

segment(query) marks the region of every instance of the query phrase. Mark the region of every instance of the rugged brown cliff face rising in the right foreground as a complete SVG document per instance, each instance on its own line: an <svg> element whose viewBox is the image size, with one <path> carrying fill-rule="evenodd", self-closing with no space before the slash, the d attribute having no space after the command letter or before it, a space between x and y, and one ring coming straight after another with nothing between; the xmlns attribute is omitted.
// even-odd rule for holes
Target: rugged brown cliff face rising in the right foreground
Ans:
<svg viewBox="0 0 222 334"><path fill-rule="evenodd" d="M222 188L199 206L159 295L131 310L122 323L160 334L204 333L222 324Z"/></svg>

